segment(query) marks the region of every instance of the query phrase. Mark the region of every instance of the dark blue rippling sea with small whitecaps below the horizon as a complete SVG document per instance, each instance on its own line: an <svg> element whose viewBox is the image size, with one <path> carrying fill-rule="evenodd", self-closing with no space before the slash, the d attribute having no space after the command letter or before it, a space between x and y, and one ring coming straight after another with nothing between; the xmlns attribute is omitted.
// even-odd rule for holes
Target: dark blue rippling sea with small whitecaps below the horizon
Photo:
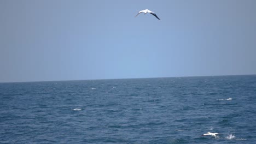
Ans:
<svg viewBox="0 0 256 144"><path fill-rule="evenodd" d="M0 94L0 143L256 142L256 75L0 83Z"/></svg>

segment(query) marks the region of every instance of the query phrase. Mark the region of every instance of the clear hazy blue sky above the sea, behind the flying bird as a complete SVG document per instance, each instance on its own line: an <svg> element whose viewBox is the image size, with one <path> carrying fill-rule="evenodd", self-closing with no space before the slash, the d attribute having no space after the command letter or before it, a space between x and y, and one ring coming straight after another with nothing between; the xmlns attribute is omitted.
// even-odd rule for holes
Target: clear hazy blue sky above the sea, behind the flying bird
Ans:
<svg viewBox="0 0 256 144"><path fill-rule="evenodd" d="M0 82L256 74L255 14L255 0L0 0Z"/></svg>

